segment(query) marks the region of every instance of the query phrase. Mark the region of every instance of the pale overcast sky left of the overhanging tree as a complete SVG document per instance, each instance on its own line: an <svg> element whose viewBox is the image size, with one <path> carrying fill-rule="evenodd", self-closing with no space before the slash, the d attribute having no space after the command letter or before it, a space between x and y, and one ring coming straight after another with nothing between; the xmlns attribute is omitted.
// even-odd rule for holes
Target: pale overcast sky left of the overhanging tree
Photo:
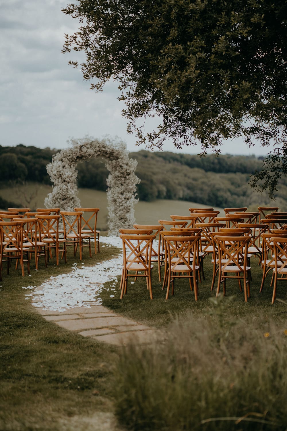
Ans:
<svg viewBox="0 0 287 431"><path fill-rule="evenodd" d="M107 84L102 93L89 90L80 70L68 65L69 59L77 59L75 54L61 53L64 34L73 33L78 25L61 12L68 1L2 0L0 4L0 145L65 148L70 137L109 134L125 141L130 151L143 149L135 146L135 136L127 134L117 84ZM167 144L164 150L174 148ZM222 153L259 156L267 151L238 141L226 143Z"/></svg>

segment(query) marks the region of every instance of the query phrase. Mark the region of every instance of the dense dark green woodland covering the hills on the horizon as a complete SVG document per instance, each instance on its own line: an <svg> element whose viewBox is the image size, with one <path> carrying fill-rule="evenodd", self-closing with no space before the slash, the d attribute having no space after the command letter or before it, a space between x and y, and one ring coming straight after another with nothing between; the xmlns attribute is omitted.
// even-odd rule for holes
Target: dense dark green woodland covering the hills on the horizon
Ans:
<svg viewBox="0 0 287 431"><path fill-rule="evenodd" d="M15 184L35 181L50 184L46 165L56 150L0 146L0 183ZM189 155L141 150L130 153L138 162L136 175L140 200L188 200L211 206L258 206L271 203L267 194L256 194L248 184L250 174L262 167L262 158L255 156ZM106 190L108 171L101 158L79 162L78 187ZM287 181L280 180L275 197L280 206L287 206Z"/></svg>

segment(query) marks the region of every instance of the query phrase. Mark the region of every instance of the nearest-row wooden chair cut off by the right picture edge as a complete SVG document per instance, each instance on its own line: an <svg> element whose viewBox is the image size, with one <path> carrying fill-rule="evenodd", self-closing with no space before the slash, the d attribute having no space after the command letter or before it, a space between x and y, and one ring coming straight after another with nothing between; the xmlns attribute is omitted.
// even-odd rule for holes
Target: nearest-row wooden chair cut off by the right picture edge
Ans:
<svg viewBox="0 0 287 431"><path fill-rule="evenodd" d="M287 281L287 237L272 237L275 252L272 304L276 299L277 281ZM281 275L281 277L278 277Z"/></svg>

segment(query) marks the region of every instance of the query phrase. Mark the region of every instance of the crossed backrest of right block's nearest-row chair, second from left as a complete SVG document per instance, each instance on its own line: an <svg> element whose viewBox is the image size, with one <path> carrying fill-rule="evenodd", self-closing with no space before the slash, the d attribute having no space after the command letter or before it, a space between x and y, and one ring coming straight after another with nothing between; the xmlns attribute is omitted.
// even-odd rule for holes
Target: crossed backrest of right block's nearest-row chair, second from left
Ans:
<svg viewBox="0 0 287 431"><path fill-rule="evenodd" d="M199 236L164 236L167 247L167 257L171 272L178 265L185 265L186 272L192 272L198 261Z"/></svg>

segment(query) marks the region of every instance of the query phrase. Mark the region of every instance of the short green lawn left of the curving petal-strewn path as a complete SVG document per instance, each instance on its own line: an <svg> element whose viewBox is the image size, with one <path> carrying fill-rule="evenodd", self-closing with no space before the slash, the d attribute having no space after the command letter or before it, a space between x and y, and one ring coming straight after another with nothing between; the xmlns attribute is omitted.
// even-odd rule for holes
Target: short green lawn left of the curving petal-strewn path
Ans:
<svg viewBox="0 0 287 431"><path fill-rule="evenodd" d="M71 247L69 247L71 249ZM85 430L86 418L95 412L111 412L111 365L114 347L97 343L47 322L25 300L22 286L39 285L47 277L67 273L78 257L68 255L68 264L55 258L48 269L43 263L32 277L10 270L0 283L0 429ZM86 266L108 259L117 249L106 247L93 258L84 249ZM26 272L27 274L27 272ZM68 424L77 417L75 428ZM81 418L84 418L82 421ZM70 427L71 426L71 427Z"/></svg>

